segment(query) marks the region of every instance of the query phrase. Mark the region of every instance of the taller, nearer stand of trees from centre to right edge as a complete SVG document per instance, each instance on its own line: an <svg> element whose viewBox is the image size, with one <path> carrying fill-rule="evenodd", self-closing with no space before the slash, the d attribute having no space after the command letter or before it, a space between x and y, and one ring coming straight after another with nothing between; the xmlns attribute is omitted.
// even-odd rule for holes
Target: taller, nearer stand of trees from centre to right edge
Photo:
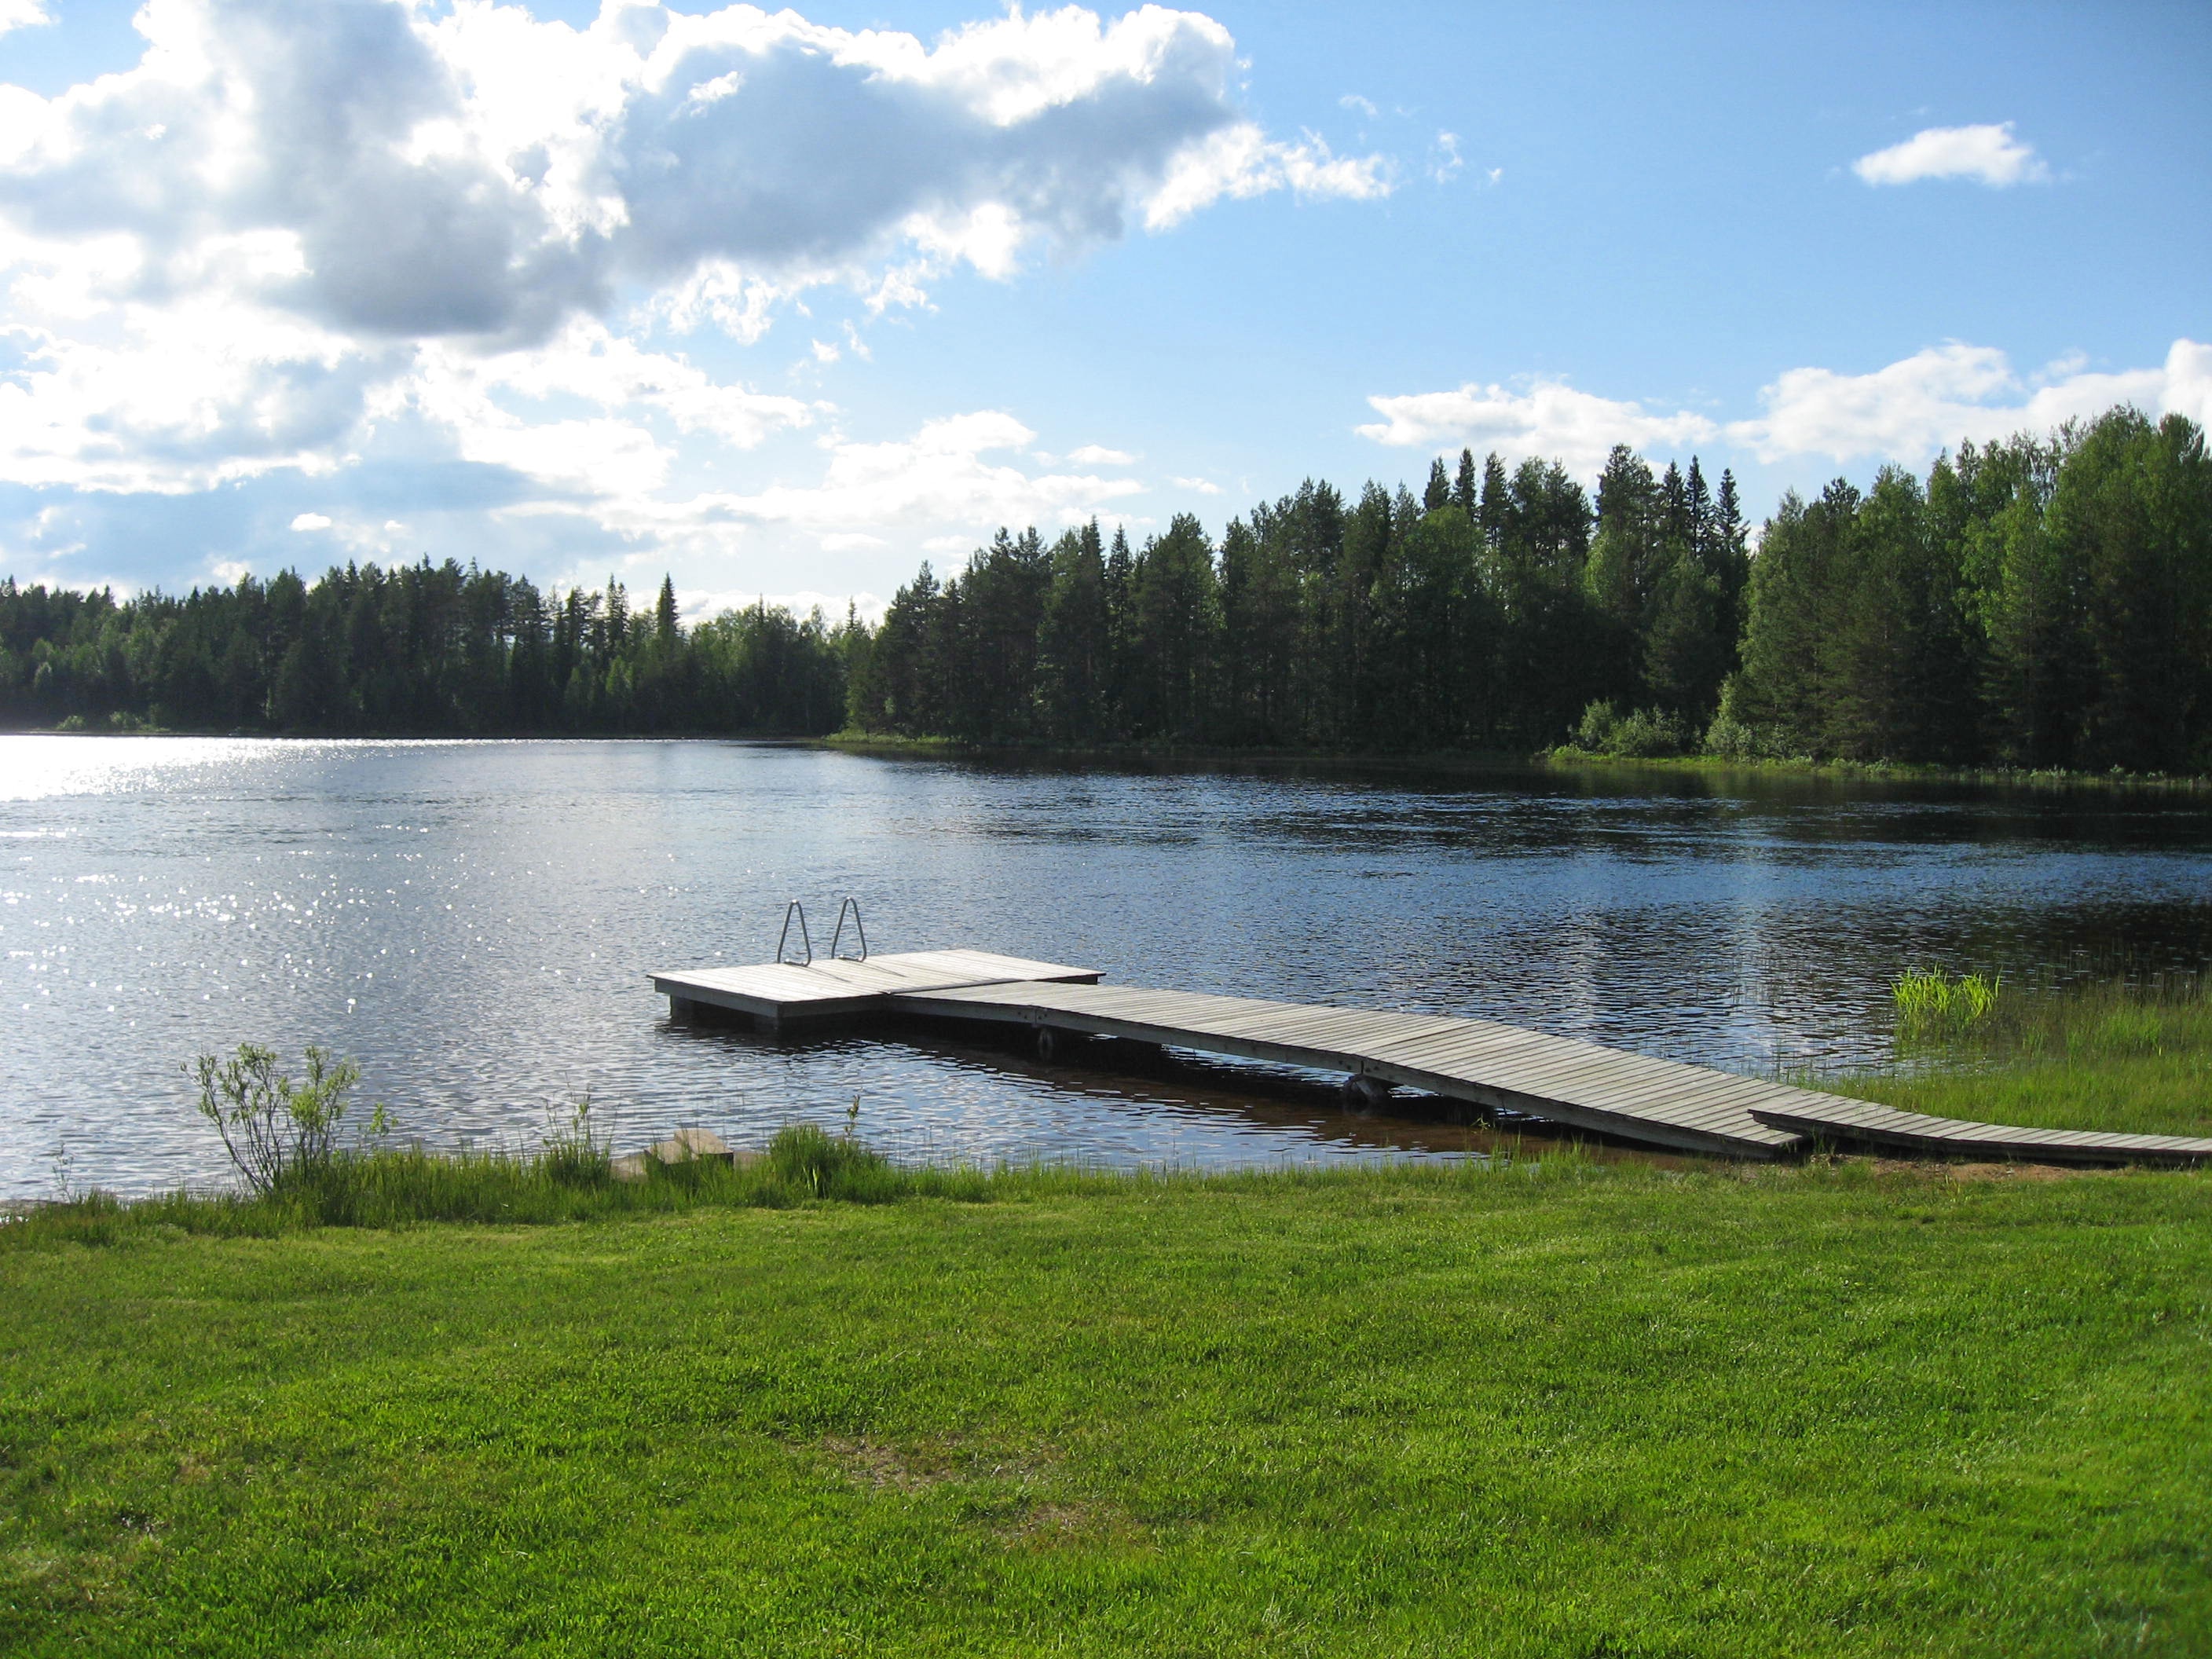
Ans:
<svg viewBox="0 0 2212 1659"><path fill-rule="evenodd" d="M1329 484L1130 549L1000 533L856 641L852 723L971 741L2212 765L2212 469L2112 409L1783 495L1621 447Z"/></svg>

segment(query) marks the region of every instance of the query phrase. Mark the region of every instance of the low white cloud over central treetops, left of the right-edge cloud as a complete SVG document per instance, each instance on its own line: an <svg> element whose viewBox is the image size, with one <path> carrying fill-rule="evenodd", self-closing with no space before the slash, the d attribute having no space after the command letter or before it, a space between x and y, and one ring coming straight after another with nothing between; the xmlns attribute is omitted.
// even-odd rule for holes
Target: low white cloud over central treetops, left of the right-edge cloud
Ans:
<svg viewBox="0 0 2212 1659"><path fill-rule="evenodd" d="M1495 449L1515 460L1562 460L1584 476L1604 465L1613 445L1672 449L1710 442L1719 434L1703 416L1646 414L1639 403L1575 392L1562 380L1531 380L1520 392L1469 383L1458 392L1376 396L1367 403L1383 420L1358 427L1358 434L1380 445Z"/></svg>

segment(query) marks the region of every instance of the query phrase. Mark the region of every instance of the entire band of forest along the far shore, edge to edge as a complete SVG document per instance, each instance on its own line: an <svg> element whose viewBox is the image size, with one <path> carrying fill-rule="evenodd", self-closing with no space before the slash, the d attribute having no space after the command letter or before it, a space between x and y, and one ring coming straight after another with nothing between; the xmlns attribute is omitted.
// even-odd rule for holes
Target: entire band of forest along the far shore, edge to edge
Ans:
<svg viewBox="0 0 2212 1659"><path fill-rule="evenodd" d="M2203 431L2112 409L1785 495L1615 449L1307 480L1214 542L1179 515L927 564L880 626L686 626L661 584L347 566L117 602L0 584L0 723L276 732L836 728L971 743L1712 752L2212 770Z"/></svg>

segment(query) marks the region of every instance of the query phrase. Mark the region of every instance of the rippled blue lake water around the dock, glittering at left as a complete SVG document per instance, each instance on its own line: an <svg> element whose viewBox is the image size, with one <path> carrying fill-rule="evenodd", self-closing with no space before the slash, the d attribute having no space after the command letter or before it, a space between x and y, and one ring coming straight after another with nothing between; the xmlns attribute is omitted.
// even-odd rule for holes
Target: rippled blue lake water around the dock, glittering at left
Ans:
<svg viewBox="0 0 2212 1659"><path fill-rule="evenodd" d="M0 1194L226 1177L181 1064L361 1062L436 1146L591 1093L639 1144L792 1119L902 1157L1462 1155L1219 1064L1046 1068L911 1033L672 1026L646 969L765 960L785 898L876 951L1471 1013L1772 1071L1878 1062L1905 964L2197 969L2212 812L1818 781L1068 770L750 743L0 737ZM827 949L827 938L816 940Z"/></svg>

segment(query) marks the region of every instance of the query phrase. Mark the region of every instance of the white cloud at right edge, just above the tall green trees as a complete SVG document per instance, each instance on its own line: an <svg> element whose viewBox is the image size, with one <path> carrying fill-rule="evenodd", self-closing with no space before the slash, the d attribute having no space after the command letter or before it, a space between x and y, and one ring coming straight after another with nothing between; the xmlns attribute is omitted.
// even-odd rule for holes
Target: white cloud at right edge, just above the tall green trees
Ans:
<svg viewBox="0 0 2212 1659"><path fill-rule="evenodd" d="M2212 420L2212 345L2174 341L2154 369L2099 374L2059 361L2022 378L2004 352L1951 341L1871 374L1787 369L1759 400L1763 414L1730 422L1728 438L1761 460L1927 460L1964 438L2048 431L2117 403Z"/></svg>

